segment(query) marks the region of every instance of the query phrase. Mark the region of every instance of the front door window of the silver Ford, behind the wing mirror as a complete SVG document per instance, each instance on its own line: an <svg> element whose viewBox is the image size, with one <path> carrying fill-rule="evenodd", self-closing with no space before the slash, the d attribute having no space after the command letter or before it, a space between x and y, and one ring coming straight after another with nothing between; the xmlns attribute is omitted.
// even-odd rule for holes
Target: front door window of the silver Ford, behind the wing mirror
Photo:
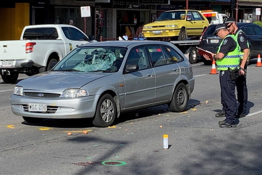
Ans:
<svg viewBox="0 0 262 175"><path fill-rule="evenodd" d="M126 65L138 65L139 70L149 68L145 47L133 48L126 59Z"/></svg>

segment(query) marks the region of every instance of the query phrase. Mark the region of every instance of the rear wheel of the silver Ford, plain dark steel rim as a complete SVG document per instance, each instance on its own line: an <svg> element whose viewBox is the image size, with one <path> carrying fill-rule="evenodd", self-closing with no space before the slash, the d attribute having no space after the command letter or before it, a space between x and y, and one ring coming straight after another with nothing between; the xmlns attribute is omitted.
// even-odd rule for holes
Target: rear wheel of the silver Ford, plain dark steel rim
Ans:
<svg viewBox="0 0 262 175"><path fill-rule="evenodd" d="M188 89L184 83L180 83L175 89L169 108L172 112L183 112L188 105L188 100Z"/></svg>

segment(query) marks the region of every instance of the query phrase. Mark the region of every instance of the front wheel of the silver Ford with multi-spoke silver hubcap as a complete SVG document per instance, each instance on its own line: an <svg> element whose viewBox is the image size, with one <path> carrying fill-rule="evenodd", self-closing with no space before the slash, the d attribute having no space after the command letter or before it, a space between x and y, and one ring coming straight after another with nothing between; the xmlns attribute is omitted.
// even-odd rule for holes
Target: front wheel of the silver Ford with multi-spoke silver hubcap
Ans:
<svg viewBox="0 0 262 175"><path fill-rule="evenodd" d="M98 101L93 124L95 127L108 127L114 122L116 113L115 100L111 95L105 94Z"/></svg>

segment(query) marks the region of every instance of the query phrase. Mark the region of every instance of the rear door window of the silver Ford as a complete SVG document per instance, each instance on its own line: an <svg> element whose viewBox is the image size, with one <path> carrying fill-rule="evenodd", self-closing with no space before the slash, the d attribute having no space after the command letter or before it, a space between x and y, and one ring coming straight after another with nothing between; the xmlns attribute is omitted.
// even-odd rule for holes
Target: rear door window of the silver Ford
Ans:
<svg viewBox="0 0 262 175"><path fill-rule="evenodd" d="M165 57L160 46L147 46L153 66L165 65Z"/></svg>

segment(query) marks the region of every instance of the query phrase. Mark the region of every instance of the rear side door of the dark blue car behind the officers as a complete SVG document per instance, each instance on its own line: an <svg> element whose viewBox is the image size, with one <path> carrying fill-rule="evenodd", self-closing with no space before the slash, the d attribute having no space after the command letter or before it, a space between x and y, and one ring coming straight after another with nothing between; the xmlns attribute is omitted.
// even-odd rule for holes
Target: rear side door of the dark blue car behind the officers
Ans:
<svg viewBox="0 0 262 175"><path fill-rule="evenodd" d="M257 56L257 54L260 52L261 40L259 39L259 37L261 36L257 36L255 34L253 27L255 27L255 25L248 25L240 28L246 34L246 37L250 43L250 50L251 50L250 57Z"/></svg>

